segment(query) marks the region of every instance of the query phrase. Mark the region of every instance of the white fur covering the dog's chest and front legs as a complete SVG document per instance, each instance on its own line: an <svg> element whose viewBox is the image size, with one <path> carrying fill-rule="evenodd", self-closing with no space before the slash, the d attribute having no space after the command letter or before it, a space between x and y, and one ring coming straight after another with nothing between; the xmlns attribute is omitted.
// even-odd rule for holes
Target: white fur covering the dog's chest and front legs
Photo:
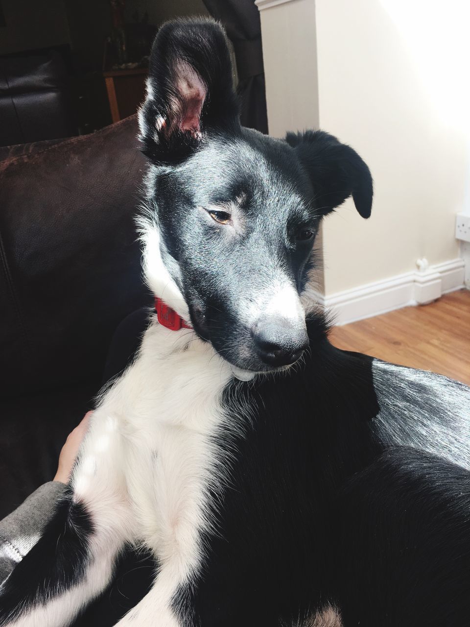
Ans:
<svg viewBox="0 0 470 627"><path fill-rule="evenodd" d="M31 608L16 627L70 624L107 586L126 541L150 547L161 567L149 594L119 624L150 626L155 616L159 627L179 624L172 596L201 567L200 534L215 522L208 518L209 488L220 492L227 472L213 436L229 427L219 396L231 377L229 364L192 330L152 321L138 358L93 414L73 475L75 499L96 527L85 579ZM230 428L243 428L240 414Z"/></svg>

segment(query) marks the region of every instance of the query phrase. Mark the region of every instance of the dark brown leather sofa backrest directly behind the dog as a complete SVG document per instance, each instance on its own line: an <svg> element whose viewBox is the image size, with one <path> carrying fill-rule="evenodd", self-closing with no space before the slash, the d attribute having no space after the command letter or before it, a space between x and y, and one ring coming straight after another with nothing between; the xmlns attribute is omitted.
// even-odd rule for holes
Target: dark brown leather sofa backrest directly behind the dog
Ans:
<svg viewBox="0 0 470 627"><path fill-rule="evenodd" d="M133 223L135 116L0 148L0 517L53 477L119 322L151 296Z"/></svg>

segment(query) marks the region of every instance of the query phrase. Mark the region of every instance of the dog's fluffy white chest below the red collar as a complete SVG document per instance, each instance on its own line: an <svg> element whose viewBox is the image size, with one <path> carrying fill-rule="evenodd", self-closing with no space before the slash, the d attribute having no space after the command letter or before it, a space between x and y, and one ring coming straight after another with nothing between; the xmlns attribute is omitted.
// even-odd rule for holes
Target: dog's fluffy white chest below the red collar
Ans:
<svg viewBox="0 0 470 627"><path fill-rule="evenodd" d="M214 436L224 421L220 398L231 376L227 363L191 331L155 325L110 394L123 424L136 538L162 562L179 554L187 566L197 566L199 532L211 525L209 488L220 483Z"/></svg>

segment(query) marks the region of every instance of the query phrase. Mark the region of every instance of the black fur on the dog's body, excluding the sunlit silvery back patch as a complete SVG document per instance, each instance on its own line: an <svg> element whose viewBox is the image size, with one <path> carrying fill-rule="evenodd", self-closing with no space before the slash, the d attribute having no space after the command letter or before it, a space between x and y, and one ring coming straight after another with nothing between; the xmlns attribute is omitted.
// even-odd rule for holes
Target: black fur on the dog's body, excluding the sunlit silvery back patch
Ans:
<svg viewBox="0 0 470 627"><path fill-rule="evenodd" d="M226 410L236 419L241 396L252 425L220 443L236 459L217 536L179 598L189 594L204 627L293 625L328 606L343 627L466 624L470 474L387 449L373 359L336 349L322 327L310 320L311 356L296 376L227 389Z"/></svg>

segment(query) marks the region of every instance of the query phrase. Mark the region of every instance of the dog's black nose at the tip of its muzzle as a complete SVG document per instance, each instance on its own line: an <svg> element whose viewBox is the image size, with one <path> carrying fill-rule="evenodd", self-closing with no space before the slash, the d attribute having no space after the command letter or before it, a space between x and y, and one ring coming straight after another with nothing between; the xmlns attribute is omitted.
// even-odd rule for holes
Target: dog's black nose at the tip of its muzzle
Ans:
<svg viewBox="0 0 470 627"><path fill-rule="evenodd" d="M256 325L253 339L259 357L268 366L288 366L296 362L308 348L308 335L303 327L290 320L275 318Z"/></svg>

